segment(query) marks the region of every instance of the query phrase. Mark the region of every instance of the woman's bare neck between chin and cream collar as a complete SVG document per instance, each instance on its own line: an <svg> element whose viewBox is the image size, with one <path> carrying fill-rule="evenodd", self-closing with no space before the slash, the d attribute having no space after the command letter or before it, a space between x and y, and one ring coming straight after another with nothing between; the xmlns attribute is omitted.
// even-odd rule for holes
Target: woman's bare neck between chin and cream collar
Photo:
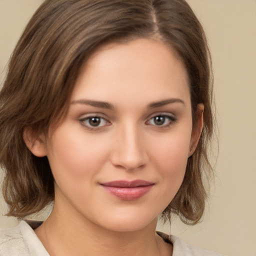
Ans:
<svg viewBox="0 0 256 256"><path fill-rule="evenodd" d="M141 230L116 232L77 216L70 219L53 208L35 233L51 256L171 255L170 245L155 234L156 222Z"/></svg>

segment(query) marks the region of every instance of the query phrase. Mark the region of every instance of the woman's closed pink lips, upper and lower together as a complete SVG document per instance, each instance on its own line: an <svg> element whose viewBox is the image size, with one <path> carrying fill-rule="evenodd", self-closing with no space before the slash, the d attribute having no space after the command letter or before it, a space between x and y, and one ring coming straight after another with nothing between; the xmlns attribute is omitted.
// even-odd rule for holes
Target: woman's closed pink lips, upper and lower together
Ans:
<svg viewBox="0 0 256 256"><path fill-rule="evenodd" d="M100 185L112 195L122 200L135 200L150 191L153 182L146 180L115 180Z"/></svg>

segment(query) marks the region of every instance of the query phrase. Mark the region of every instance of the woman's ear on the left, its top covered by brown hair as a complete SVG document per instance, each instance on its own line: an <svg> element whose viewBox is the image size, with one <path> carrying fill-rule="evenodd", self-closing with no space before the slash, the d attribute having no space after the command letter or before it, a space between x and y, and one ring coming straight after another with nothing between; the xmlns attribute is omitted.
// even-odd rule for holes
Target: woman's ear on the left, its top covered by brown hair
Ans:
<svg viewBox="0 0 256 256"><path fill-rule="evenodd" d="M47 154L44 134L38 135L34 129L26 127L23 132L23 139L27 148L35 156L42 157Z"/></svg>

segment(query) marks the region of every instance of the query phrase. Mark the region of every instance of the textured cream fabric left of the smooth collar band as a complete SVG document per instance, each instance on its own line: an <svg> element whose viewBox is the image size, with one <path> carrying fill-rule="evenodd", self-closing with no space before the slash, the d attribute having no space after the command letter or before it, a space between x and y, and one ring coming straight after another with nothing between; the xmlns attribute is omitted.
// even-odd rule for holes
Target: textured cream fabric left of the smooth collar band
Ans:
<svg viewBox="0 0 256 256"><path fill-rule="evenodd" d="M16 255L29 255L20 224L15 227L0 229L0 256Z"/></svg>

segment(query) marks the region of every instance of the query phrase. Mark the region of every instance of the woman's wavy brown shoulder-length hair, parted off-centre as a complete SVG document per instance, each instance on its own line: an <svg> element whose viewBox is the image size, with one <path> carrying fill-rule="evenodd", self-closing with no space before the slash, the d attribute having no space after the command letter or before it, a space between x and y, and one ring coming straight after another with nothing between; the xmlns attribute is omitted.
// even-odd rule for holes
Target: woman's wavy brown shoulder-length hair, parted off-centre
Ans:
<svg viewBox="0 0 256 256"><path fill-rule="evenodd" d="M80 67L99 46L135 38L161 40L179 54L189 77L194 123L197 104L204 104L198 145L161 215L165 220L178 215L186 224L201 219L207 198L203 180L212 172L207 156L214 124L211 60L203 28L185 0L45 0L40 5L17 42L0 91L7 215L24 218L54 199L47 157L29 151L24 129L40 134L63 117Z"/></svg>

